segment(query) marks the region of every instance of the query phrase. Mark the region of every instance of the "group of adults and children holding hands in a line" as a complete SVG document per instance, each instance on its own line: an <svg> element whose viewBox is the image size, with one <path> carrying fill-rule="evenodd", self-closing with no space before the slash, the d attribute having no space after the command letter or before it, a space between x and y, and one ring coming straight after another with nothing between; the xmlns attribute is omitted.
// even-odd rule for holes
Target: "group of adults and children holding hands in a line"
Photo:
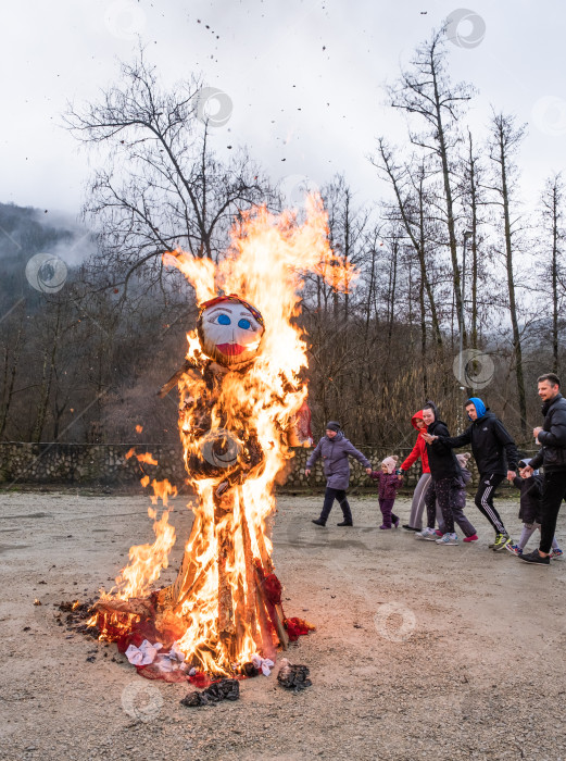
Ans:
<svg viewBox="0 0 566 761"><path fill-rule="evenodd" d="M418 539L457 545L460 540L454 527L457 524L464 533L465 542L477 541L476 528L464 514L466 484L471 479L467 469L470 456L454 453L454 449L470 446L479 471L475 503L495 534L490 549L495 552L506 549L528 563L549 565L551 558L563 554L554 535L562 500L566 499L566 399L559 389L561 382L554 373L538 378L544 423L532 431L541 448L530 460L519 459L513 437L479 397L466 401L469 425L460 436L450 436L435 403L427 402L412 417L417 439L400 467L398 457L390 456L381 462L380 470L375 471L369 460L345 438L340 424L330 421L326 435L318 441L305 467L309 476L316 461L322 459L327 478L323 510L313 523L325 526L334 501L338 500L343 516L338 525L353 525L347 489L350 481L349 457L354 457L365 467L367 475L378 483L382 515L379 528L398 528L400 519L393 512L397 492L406 471L419 460L423 474L413 495L408 523L403 528L414 532ZM541 465L542 475L539 473ZM523 532L517 542L511 538L493 504L494 491L505 477L520 490ZM423 527L425 509L426 526ZM540 531L539 548L525 552L528 540L537 529Z"/></svg>

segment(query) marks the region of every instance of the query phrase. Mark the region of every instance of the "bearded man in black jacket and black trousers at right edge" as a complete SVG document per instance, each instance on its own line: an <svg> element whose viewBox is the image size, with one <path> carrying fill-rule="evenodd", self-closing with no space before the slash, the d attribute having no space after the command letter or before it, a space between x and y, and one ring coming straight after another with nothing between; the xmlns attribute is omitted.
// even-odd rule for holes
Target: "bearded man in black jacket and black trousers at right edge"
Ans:
<svg viewBox="0 0 566 761"><path fill-rule="evenodd" d="M541 529L539 549L520 559L536 565L550 565L552 538L562 500L566 494L566 399L561 394L561 382L554 373L538 379L539 397L542 399L544 425L532 431L542 449L524 471L526 476L540 465L544 466L541 498Z"/></svg>

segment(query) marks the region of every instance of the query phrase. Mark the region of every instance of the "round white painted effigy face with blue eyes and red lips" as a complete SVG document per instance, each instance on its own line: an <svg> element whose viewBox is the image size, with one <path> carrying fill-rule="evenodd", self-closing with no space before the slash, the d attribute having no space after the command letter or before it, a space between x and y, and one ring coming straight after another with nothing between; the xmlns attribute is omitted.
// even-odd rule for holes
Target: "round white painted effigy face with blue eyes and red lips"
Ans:
<svg viewBox="0 0 566 761"><path fill-rule="evenodd" d="M237 370L254 359L264 326L252 304L237 296L219 296L202 304L198 330L206 357Z"/></svg>

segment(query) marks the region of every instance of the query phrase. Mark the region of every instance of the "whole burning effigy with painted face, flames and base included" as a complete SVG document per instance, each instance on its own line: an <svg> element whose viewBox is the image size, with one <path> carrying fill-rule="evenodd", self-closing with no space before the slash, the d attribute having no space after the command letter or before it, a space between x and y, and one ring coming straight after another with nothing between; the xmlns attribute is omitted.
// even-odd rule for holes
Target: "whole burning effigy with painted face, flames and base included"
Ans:
<svg viewBox="0 0 566 761"><path fill-rule="evenodd" d="M298 425L307 396L301 291L313 274L347 290L354 273L329 246L318 197L307 200L301 223L266 208L243 214L217 264L180 250L164 261L186 276L200 304L185 364L160 391L178 387L194 519L175 582L155 588L175 544L167 504L175 491L152 483L153 502L164 507L159 519L150 510L155 541L130 549L116 586L96 604L96 624L131 662L165 674L268 673L278 647L314 628L285 615L268 527L291 447L310 445L304 420Z"/></svg>

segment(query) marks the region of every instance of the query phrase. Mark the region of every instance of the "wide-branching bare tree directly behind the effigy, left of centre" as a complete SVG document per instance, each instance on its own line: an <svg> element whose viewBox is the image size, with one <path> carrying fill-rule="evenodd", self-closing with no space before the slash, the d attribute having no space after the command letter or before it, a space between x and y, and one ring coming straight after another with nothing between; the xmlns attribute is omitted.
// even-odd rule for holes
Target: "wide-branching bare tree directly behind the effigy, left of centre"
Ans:
<svg viewBox="0 0 566 761"><path fill-rule="evenodd" d="M140 51L100 102L65 115L75 137L103 151L84 215L100 230L103 264L126 285L144 264L161 275L161 254L177 246L217 257L231 217L269 198L246 151L227 163L215 155L202 87L191 77L164 90Z"/></svg>

